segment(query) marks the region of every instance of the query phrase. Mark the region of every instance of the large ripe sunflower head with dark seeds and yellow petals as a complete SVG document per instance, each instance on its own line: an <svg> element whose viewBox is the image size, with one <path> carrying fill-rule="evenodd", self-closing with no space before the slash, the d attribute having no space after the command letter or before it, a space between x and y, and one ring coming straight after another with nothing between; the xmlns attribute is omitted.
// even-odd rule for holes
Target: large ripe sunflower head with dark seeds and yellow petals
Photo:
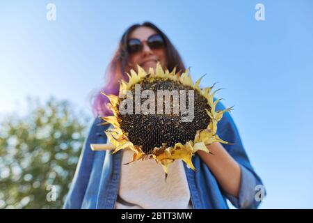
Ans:
<svg viewBox="0 0 313 223"><path fill-rule="evenodd" d="M193 84L188 69L180 75L157 68L145 72L131 70L129 81L120 81L120 95L106 95L113 116L101 117L113 128L106 136L115 146L134 151L134 159L147 158L161 164L166 176L168 165L182 159L195 170L191 157L198 150L210 153L214 142L227 144L216 134L217 123L232 109L216 111L214 86L200 89L200 79ZM130 162L129 162L130 163ZM127 163L127 164L129 164Z"/></svg>

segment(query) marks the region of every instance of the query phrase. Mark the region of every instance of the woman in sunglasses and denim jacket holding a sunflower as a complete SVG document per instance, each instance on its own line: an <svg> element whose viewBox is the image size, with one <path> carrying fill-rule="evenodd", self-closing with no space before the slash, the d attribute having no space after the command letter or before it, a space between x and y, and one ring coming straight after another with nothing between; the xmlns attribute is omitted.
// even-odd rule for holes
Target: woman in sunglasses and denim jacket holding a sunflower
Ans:
<svg viewBox="0 0 313 223"><path fill-rule="evenodd" d="M166 35L151 24L135 24L123 34L107 72L102 91L118 95L119 79L140 65L146 71L155 68L184 70L184 64ZM100 93L95 98L95 115L107 116L109 101ZM224 109L218 103L216 109ZM105 144L104 130L95 118L77 166L64 208L228 208L229 199L236 208L257 208L256 187L262 187L241 144L239 132L229 113L218 122L218 136L233 144L211 144L209 155L197 151L193 164L199 172L188 169L182 160L170 165L165 182L163 169L154 160L133 162L131 151L91 151L90 144Z"/></svg>

